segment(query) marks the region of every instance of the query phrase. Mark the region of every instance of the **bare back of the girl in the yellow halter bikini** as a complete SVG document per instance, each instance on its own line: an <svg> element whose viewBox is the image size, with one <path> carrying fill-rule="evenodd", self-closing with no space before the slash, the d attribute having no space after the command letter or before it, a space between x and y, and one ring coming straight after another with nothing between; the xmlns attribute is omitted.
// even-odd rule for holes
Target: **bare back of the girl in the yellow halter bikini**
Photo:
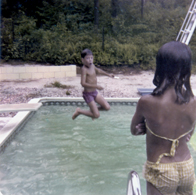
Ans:
<svg viewBox="0 0 196 195"><path fill-rule="evenodd" d="M196 120L196 99L191 98L189 103L177 104L174 87L167 89L161 96L144 96L140 99L143 115L146 120L147 158L156 162L159 155L169 153L172 141L194 128ZM155 135L154 135L154 134ZM168 139L164 139L161 137ZM190 158L187 147L187 136L179 139L174 157L163 157L161 162L175 162Z"/></svg>

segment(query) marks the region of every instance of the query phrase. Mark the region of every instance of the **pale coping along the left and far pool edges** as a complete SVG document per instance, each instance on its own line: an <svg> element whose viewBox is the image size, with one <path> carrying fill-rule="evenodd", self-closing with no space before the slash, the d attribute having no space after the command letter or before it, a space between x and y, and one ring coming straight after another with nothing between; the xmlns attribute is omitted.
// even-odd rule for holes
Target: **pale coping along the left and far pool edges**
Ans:
<svg viewBox="0 0 196 195"><path fill-rule="evenodd" d="M139 100L138 98L105 98L109 103L136 103ZM42 107L47 102L68 102L68 103L82 103L85 105L82 97L70 97L70 98L64 98L64 97L42 97L42 98L34 98L31 99L27 104L36 104L36 103L42 103L40 107ZM21 104L22 106L22 104ZM40 108L39 107L39 108ZM36 111L20 111L21 108L18 110L19 112L11 118L7 124L1 129L0 131L0 152L4 151L7 144L13 139L15 134L25 125L25 123L28 121L30 117L36 112ZM71 119L70 119L71 120Z"/></svg>

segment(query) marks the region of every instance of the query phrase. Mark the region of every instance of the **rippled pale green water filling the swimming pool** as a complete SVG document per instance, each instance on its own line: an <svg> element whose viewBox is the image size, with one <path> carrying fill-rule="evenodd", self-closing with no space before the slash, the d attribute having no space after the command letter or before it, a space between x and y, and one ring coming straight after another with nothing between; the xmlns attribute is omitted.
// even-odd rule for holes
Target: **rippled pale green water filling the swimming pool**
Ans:
<svg viewBox="0 0 196 195"><path fill-rule="evenodd" d="M146 194L145 136L129 127L135 106L117 103L94 121L72 121L75 108L43 106L16 134L0 158L3 194L123 195L131 170Z"/></svg>

